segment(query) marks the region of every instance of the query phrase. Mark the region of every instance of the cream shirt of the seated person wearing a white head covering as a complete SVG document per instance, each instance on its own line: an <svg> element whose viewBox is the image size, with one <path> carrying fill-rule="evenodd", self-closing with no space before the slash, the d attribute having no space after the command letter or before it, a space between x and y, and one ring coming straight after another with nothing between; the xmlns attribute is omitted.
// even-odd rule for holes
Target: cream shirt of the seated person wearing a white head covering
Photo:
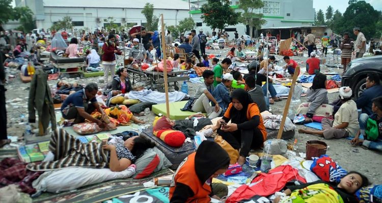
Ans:
<svg viewBox="0 0 382 203"><path fill-rule="evenodd" d="M338 112L334 115L333 127L344 122L349 123L345 128L349 131L349 136L355 136L360 129L360 125L358 123L357 104L353 100L348 100L341 105Z"/></svg>

